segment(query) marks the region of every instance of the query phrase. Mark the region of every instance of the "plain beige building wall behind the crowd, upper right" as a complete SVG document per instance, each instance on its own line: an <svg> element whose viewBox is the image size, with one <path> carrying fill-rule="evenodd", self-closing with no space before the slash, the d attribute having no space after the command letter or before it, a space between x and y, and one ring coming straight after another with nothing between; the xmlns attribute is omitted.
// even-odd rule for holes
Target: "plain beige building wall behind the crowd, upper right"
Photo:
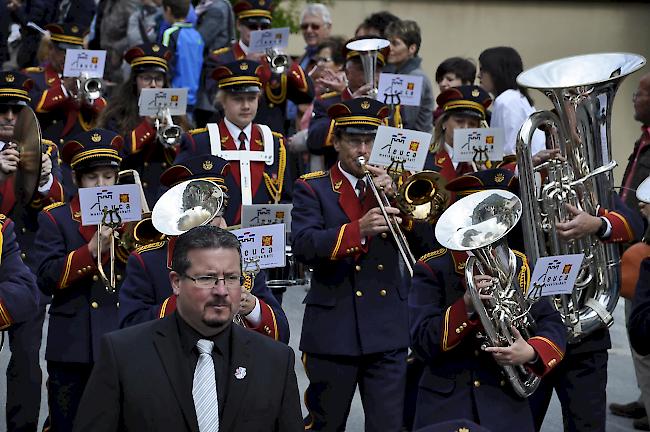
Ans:
<svg viewBox="0 0 650 432"><path fill-rule="evenodd" d="M485 48L508 45L519 51L524 67L565 56L626 51L650 58L650 6L640 3L589 1L434 1L335 0L331 7L333 34L352 36L369 14L388 10L422 29L420 56L433 77L444 59L478 59ZM300 35L292 36L291 53L302 51ZM612 147L619 162L617 182L623 174L639 123L634 121L632 92L648 66L628 77L618 91L613 112ZM478 82L478 81L477 81ZM546 97L531 96L537 108L548 108Z"/></svg>

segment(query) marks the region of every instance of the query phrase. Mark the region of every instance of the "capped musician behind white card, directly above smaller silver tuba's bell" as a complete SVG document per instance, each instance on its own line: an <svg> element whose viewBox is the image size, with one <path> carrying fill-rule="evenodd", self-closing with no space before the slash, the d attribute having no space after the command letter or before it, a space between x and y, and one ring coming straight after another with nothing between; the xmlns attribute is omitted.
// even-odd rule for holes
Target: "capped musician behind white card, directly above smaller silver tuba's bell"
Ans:
<svg viewBox="0 0 650 432"><path fill-rule="evenodd" d="M444 90L436 98L436 103L442 114L436 121L433 143L427 153L424 169L439 171L447 181L451 181L475 171L467 162L452 161L454 130L481 127L492 98L479 86L463 85Z"/></svg>

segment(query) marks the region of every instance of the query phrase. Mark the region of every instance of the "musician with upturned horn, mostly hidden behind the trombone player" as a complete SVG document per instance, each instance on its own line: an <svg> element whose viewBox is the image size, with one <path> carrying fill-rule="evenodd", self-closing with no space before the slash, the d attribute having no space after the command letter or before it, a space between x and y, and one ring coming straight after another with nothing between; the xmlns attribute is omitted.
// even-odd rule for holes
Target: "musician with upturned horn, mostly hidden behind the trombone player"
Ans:
<svg viewBox="0 0 650 432"><path fill-rule="evenodd" d="M367 39L368 37L361 37L357 39ZM351 39L347 43L352 42ZM346 43L346 45L347 45ZM379 50L377 53L377 68L375 81L379 82L379 74L386 64L388 58L389 47ZM361 53L355 50L350 50L347 47L344 49L345 54L345 82L339 82L335 77L331 77L331 81L321 80L325 85L330 88L341 87L342 90L334 90L320 95L314 101L314 116L309 122L309 134L307 135L307 147L313 154L323 155L325 158L325 166L330 168L337 162L336 151L332 147L332 128L333 122L327 115L327 110L334 104L348 101L350 99L364 97L371 90L371 84L366 83L366 78L361 63Z"/></svg>

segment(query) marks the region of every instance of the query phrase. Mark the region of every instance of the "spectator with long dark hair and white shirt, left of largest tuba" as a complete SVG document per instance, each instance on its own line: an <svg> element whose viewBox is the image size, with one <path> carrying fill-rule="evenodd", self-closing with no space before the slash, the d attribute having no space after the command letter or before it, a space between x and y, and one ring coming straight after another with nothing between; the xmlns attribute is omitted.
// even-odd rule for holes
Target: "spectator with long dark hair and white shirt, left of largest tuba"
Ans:
<svg viewBox="0 0 650 432"><path fill-rule="evenodd" d="M478 61L481 87L495 98L490 126L504 129L504 155L514 154L519 129L535 112L528 90L517 84L517 75L524 70L523 62L519 53L511 47L488 48L481 53ZM533 135L532 154L545 148L544 134L538 130Z"/></svg>

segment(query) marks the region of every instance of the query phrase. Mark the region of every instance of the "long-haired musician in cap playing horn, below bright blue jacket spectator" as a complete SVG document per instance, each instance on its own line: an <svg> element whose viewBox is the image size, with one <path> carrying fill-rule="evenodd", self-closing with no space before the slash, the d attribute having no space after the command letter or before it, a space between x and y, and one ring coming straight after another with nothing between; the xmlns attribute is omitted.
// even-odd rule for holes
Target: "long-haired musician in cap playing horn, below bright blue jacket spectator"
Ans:
<svg viewBox="0 0 650 432"><path fill-rule="evenodd" d="M179 143L168 146L161 142L156 118L140 116L138 100L144 88L169 86L171 57L171 51L158 44L145 43L129 49L124 54L124 60L131 65L129 79L115 91L98 120L99 127L124 137L121 168L140 173L142 189L151 206L162 194L160 174L173 162ZM162 118L158 120L165 123Z"/></svg>

